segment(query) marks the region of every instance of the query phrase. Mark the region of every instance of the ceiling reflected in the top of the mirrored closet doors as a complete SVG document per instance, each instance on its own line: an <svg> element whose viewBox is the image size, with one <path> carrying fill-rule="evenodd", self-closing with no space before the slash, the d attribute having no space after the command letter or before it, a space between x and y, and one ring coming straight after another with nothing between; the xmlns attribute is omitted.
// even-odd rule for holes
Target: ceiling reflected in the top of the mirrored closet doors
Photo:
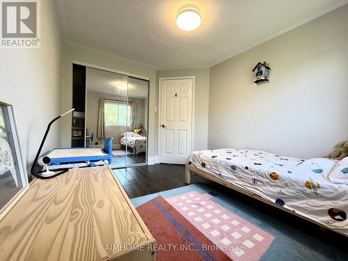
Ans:
<svg viewBox="0 0 348 261"><path fill-rule="evenodd" d="M132 97L145 99L148 97L148 81L128 78L127 89L120 89L119 86L127 86L127 77L122 74L106 72L94 68L86 70L86 88L93 93L103 93L112 96Z"/></svg>

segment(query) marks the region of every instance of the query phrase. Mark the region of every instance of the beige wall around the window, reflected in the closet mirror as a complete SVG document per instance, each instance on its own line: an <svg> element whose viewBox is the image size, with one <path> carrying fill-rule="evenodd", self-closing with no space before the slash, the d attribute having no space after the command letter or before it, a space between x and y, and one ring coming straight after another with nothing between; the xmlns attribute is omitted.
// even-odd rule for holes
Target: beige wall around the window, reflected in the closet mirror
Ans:
<svg viewBox="0 0 348 261"><path fill-rule="evenodd" d="M105 93L94 93L87 92L87 103L86 103L86 127L88 129L88 133L97 134L97 124L98 124L98 110L99 110L99 101L100 98L104 97L107 99L115 99L118 100L119 96L113 96ZM137 98L128 98L129 102L134 102L136 104L136 121L135 127L139 127L139 125L145 125L145 99L137 99ZM105 127L105 135L106 137L113 137L113 148L120 148L120 134L126 131L126 127L120 126L106 126ZM133 131L133 129L129 129L129 131ZM96 136L95 136L96 137Z"/></svg>

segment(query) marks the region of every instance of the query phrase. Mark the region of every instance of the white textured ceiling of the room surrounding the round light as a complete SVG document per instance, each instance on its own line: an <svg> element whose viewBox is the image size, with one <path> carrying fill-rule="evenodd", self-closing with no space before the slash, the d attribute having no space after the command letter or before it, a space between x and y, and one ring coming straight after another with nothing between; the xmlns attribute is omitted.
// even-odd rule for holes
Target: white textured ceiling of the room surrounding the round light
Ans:
<svg viewBox="0 0 348 261"><path fill-rule="evenodd" d="M348 3L348 0L55 0L63 40L158 69L207 67ZM200 8L195 31L175 25Z"/></svg>

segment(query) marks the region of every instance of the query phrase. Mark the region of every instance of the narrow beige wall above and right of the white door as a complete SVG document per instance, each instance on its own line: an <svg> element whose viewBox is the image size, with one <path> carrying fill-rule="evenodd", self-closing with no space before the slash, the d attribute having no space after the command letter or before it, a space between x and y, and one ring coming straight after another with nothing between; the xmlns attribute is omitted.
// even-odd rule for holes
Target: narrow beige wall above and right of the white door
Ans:
<svg viewBox="0 0 348 261"><path fill-rule="evenodd" d="M157 77L195 77L194 150L207 149L209 68L159 70Z"/></svg>

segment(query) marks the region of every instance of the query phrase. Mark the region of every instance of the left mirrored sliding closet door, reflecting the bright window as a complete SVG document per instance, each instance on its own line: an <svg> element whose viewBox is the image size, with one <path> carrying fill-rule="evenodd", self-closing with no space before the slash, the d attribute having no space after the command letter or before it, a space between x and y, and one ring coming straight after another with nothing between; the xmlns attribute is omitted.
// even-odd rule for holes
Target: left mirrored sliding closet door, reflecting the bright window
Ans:
<svg viewBox="0 0 348 261"><path fill-rule="evenodd" d="M113 138L111 168L125 168L127 162L127 89L126 75L86 70L86 146L101 147Z"/></svg>

